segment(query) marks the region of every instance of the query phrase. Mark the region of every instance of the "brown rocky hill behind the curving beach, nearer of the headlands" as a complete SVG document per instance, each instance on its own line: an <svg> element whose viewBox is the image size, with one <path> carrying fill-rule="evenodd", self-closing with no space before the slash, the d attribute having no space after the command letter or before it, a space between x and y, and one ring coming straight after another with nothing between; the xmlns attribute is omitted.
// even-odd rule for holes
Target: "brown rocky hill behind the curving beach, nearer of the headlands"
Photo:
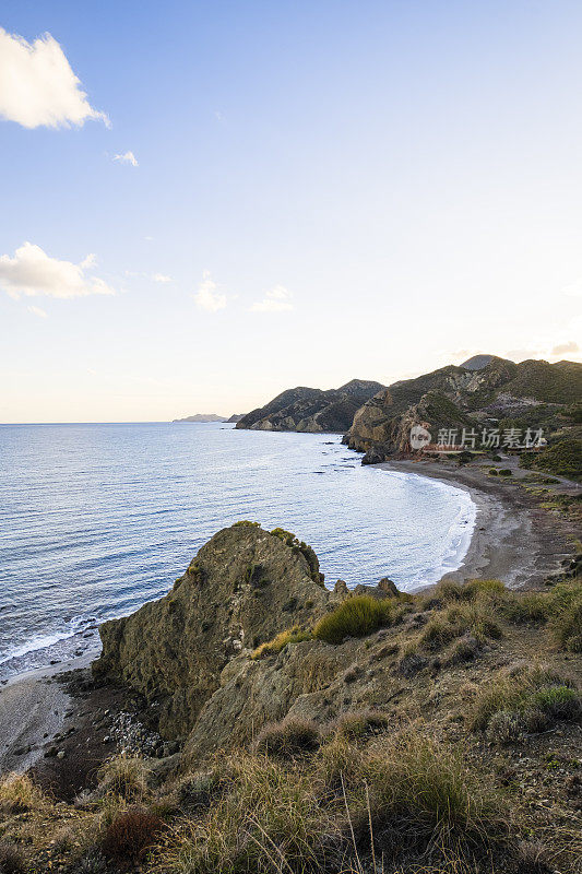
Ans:
<svg viewBox="0 0 582 874"><path fill-rule="evenodd" d="M523 418L523 427L556 426L566 404L582 395L582 365L573 362L521 364L478 355L464 365L442 367L416 379L394 382L354 415L344 437L364 452L364 463L409 453L413 425L436 441L440 429L472 428L498 420ZM535 411L535 418L532 412Z"/></svg>

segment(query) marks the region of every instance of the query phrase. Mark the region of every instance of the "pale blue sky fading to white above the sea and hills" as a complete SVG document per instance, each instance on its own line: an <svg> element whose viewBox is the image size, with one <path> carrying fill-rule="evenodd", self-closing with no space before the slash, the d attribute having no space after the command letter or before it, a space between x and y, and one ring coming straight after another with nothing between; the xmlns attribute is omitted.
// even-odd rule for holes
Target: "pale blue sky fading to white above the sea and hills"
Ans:
<svg viewBox="0 0 582 874"><path fill-rule="evenodd" d="M110 120L0 119L0 421L582 358L579 2L4 0L0 27L49 33ZM83 294L15 293L25 241L93 253Z"/></svg>

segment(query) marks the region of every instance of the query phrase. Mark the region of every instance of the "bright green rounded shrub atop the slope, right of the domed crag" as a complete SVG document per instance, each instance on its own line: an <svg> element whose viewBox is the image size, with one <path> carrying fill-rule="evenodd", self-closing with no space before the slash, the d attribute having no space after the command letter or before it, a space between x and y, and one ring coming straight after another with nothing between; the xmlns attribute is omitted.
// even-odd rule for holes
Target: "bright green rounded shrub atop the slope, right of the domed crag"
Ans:
<svg viewBox="0 0 582 874"><path fill-rule="evenodd" d="M321 617L313 637L326 643L341 643L346 637L366 637L389 625L395 615L394 599L377 601L368 594L354 595Z"/></svg>

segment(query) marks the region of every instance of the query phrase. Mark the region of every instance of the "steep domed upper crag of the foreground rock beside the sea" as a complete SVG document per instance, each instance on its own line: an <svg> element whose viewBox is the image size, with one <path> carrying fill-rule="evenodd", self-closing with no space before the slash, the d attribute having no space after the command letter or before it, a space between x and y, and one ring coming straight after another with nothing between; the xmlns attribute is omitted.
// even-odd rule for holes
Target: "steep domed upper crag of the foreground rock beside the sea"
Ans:
<svg viewBox="0 0 582 874"><path fill-rule="evenodd" d="M183 737L233 659L325 611L318 570L312 551L258 525L224 529L165 598L100 627L94 672L136 689L158 709L161 733Z"/></svg>

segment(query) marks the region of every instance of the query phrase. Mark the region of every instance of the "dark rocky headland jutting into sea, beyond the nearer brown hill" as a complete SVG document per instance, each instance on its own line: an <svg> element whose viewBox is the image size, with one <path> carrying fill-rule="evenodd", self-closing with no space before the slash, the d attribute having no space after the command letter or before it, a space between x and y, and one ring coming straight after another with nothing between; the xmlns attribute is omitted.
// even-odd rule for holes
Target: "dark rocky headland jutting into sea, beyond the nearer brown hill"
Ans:
<svg viewBox="0 0 582 874"><path fill-rule="evenodd" d="M364 379L353 379L329 391L300 386L247 413L237 428L343 434L352 425L356 411L381 389L380 382Z"/></svg>

